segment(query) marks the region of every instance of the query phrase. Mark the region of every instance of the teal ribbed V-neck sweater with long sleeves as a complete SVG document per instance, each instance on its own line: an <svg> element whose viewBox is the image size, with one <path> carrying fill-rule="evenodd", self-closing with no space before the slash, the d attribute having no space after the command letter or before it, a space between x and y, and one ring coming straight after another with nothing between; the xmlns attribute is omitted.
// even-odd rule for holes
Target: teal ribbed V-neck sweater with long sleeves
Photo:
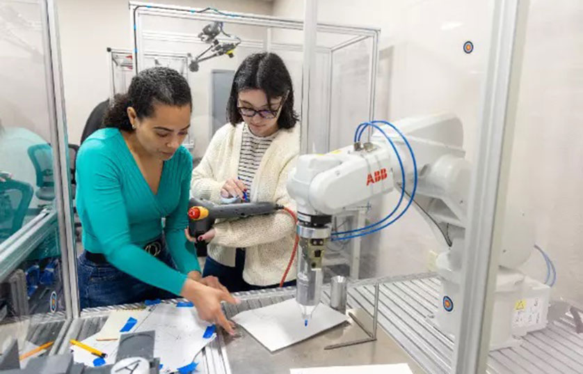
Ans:
<svg viewBox="0 0 583 374"><path fill-rule="evenodd" d="M191 172L192 156L181 146L164 162L154 194L120 130L93 133L77 155L77 211L83 247L104 254L122 272L179 295L186 274L200 272L194 246L184 236ZM179 271L143 250L162 231Z"/></svg>

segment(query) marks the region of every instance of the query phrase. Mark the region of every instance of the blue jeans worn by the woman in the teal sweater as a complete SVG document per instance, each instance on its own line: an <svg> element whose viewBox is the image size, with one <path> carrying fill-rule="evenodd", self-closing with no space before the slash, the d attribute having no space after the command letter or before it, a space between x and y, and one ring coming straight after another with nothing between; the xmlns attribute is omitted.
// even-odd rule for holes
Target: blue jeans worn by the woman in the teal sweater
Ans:
<svg viewBox="0 0 583 374"><path fill-rule="evenodd" d="M172 256L166 247L158 258L166 265L175 268ZM77 274L79 276L81 308L131 304L144 300L176 297L166 290L138 281L109 263L94 263L86 258L85 252L77 259Z"/></svg>

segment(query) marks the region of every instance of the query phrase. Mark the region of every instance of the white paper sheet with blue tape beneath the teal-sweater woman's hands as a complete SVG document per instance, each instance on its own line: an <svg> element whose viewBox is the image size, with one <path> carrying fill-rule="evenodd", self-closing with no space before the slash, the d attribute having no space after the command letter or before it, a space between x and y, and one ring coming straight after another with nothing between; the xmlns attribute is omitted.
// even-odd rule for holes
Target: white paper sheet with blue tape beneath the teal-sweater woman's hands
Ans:
<svg viewBox="0 0 583 374"><path fill-rule="evenodd" d="M162 373L191 364L211 338L203 338L209 324L198 319L195 308L179 308L170 304L154 307L132 332L155 331L154 357L160 358Z"/></svg>

